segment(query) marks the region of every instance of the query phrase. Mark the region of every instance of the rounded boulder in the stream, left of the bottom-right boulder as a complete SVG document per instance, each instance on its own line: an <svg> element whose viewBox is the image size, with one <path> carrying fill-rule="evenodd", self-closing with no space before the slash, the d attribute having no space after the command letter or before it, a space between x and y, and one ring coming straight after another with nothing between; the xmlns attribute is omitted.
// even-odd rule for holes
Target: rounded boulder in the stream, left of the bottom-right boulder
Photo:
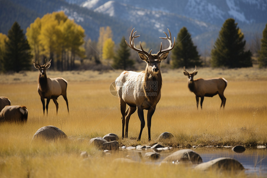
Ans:
<svg viewBox="0 0 267 178"><path fill-rule="evenodd" d="M161 161L161 163L165 162L170 162L174 164L179 164L179 163L199 164L203 161L200 155L194 152L193 150L182 149L172 153L171 155L165 157L165 159Z"/></svg>

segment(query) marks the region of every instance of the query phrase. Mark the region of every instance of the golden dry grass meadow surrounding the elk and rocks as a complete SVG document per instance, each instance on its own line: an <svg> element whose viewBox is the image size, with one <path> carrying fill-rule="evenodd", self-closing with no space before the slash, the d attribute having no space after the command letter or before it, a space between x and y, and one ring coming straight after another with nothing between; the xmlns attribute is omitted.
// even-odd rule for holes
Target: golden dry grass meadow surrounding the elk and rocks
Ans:
<svg viewBox="0 0 267 178"><path fill-rule="evenodd" d="M195 95L189 91L182 69L162 67L161 100L152 117L151 141L145 126L141 141L137 141L140 121L137 113L129 121L129 138L120 139L120 146L152 145L163 132L174 138L162 142L173 148L243 145L252 149L267 144L267 70L256 67L242 69L198 68L195 79L224 77L225 108L220 108L218 95L205 97L203 109L197 110ZM193 69L187 69L188 72ZM118 98L110 93L110 85L121 71L47 71L48 77L63 77L68 81L67 97L70 112L62 96L51 101L48 116L37 92L37 71L0 75L0 95L11 105L28 109L26 124L0 125L0 177L213 177L199 174L183 166L153 164L120 164L111 162L124 153L103 156L103 152L88 144L91 138L115 133L121 137L121 114ZM145 118L146 118L146 111ZM145 119L146 120L146 119ZM43 126L56 126L68 139L58 142L31 144L34 133ZM79 156L87 151L89 159ZM262 154L265 154L263 152ZM138 170L138 171L136 171ZM236 176L236 175L235 175ZM244 177L246 175L239 175Z"/></svg>

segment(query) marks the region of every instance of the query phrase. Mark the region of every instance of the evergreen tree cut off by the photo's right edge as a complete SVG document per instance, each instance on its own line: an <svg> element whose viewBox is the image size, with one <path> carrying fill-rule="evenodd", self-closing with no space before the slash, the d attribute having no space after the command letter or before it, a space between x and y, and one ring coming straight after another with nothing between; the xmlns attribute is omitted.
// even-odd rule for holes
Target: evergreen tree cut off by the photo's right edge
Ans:
<svg viewBox="0 0 267 178"><path fill-rule="evenodd" d="M259 66L266 67L267 66L267 24L265 25L265 29L262 32L261 39L261 49L259 51Z"/></svg>

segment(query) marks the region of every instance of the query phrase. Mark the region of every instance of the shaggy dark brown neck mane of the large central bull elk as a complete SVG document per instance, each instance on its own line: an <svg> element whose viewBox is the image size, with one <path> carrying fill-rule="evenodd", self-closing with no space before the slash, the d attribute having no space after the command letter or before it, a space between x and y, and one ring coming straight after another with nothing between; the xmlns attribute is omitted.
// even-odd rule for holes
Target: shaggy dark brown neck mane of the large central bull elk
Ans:
<svg viewBox="0 0 267 178"><path fill-rule="evenodd" d="M143 82L143 91L148 102L153 104L156 102L157 96L161 92L162 86L162 77L161 72L153 75L148 71L148 66L145 71L144 82Z"/></svg>

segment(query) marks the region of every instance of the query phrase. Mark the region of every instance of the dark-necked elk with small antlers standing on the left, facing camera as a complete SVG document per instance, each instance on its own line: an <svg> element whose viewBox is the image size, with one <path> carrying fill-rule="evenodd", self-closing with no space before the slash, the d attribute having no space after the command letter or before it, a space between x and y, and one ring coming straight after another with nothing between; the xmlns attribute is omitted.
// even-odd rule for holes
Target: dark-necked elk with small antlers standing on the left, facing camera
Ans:
<svg viewBox="0 0 267 178"><path fill-rule="evenodd" d="M67 103L67 108L69 112L69 104L67 99L67 84L68 82L63 78L47 78L46 70L50 67L51 60L40 66L34 62L34 67L39 70L38 76L38 93L41 97L41 101L43 103L43 114L45 111L45 101L46 98L46 112L48 114L48 104L50 99L53 99L53 102L56 104L56 108L58 110L57 98L62 95Z"/></svg>

